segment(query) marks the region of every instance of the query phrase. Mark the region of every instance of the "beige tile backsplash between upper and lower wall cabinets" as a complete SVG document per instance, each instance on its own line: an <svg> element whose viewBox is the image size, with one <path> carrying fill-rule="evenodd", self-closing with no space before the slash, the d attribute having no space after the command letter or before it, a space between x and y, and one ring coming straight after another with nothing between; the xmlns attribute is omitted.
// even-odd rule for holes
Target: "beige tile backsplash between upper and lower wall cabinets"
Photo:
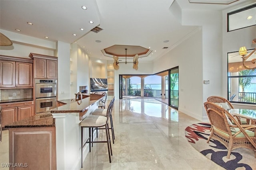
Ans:
<svg viewBox="0 0 256 170"><path fill-rule="evenodd" d="M27 99L33 98L32 88L30 89L1 89L0 100Z"/></svg>

